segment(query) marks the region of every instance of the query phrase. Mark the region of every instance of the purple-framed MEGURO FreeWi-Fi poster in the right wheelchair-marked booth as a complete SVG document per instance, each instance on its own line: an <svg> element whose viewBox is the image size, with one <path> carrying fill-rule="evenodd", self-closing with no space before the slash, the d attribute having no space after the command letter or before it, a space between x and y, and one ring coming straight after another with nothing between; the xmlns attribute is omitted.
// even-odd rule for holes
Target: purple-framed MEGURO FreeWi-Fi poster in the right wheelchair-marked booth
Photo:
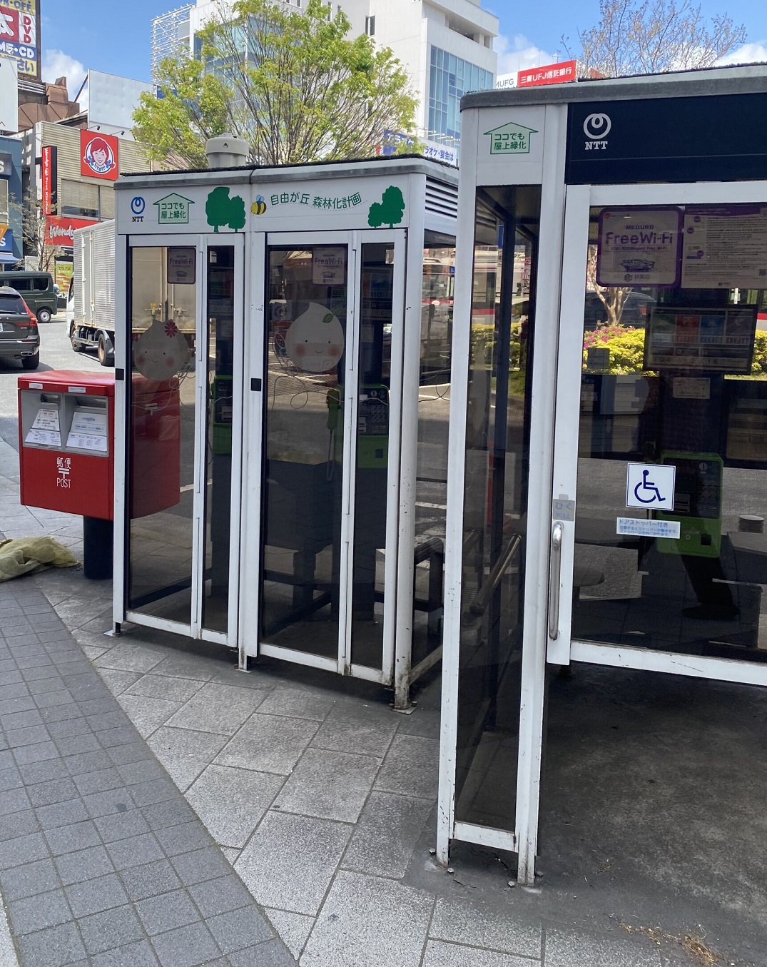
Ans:
<svg viewBox="0 0 767 967"><path fill-rule="evenodd" d="M600 213L599 285L676 285L682 212L679 208L605 208Z"/></svg>

